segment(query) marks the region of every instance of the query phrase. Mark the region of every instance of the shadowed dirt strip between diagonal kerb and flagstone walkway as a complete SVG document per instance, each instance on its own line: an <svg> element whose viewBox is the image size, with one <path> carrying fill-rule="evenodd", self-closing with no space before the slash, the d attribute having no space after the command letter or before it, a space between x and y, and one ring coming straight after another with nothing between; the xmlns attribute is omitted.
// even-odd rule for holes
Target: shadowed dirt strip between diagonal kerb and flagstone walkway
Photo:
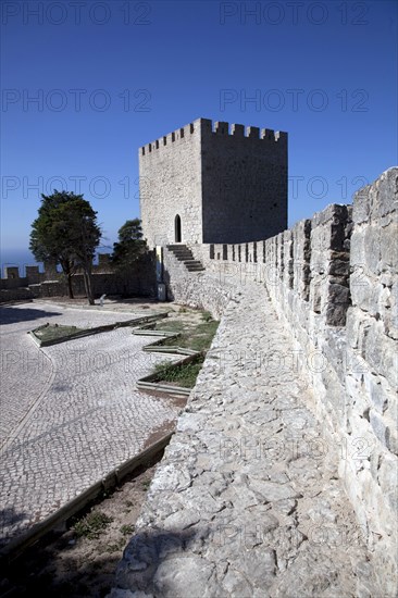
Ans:
<svg viewBox="0 0 398 598"><path fill-rule="evenodd" d="M160 461L162 453L158 456ZM108 498L89 508L92 516L107 515L112 521L97 538L78 537L74 527L53 532L3 569L1 597L102 598L113 584L117 562L134 534L134 525L156 463L136 470ZM80 515L84 515L82 513ZM79 516L80 516L79 515ZM69 525L73 525L69 522Z"/></svg>

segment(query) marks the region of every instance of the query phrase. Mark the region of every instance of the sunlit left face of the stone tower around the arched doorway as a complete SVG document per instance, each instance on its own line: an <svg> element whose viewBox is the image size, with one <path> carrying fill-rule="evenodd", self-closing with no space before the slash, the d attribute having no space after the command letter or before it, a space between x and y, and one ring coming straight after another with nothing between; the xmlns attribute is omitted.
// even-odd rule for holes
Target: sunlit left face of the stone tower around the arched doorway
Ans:
<svg viewBox="0 0 398 598"><path fill-rule="evenodd" d="M150 248L182 240L202 242L200 120L139 148L139 201L144 237Z"/></svg>

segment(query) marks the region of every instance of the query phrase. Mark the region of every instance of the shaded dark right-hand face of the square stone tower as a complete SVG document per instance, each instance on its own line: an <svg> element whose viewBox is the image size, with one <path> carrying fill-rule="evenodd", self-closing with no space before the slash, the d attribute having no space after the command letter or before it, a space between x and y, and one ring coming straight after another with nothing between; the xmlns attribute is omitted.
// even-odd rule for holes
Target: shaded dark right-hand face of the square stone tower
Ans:
<svg viewBox="0 0 398 598"><path fill-rule="evenodd" d="M287 227L287 134L202 120L203 242L265 239Z"/></svg>

